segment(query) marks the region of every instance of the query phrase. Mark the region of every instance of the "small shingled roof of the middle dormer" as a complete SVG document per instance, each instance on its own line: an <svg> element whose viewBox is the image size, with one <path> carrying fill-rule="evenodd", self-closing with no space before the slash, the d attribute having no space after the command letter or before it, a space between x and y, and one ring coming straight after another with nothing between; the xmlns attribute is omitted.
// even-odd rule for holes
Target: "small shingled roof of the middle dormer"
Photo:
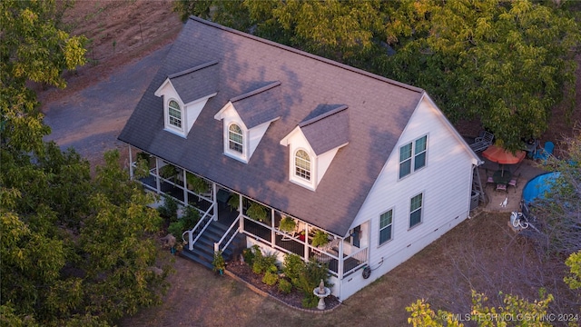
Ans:
<svg viewBox="0 0 581 327"><path fill-rule="evenodd" d="M273 82L230 99L247 128L270 122L282 114L281 82Z"/></svg>

